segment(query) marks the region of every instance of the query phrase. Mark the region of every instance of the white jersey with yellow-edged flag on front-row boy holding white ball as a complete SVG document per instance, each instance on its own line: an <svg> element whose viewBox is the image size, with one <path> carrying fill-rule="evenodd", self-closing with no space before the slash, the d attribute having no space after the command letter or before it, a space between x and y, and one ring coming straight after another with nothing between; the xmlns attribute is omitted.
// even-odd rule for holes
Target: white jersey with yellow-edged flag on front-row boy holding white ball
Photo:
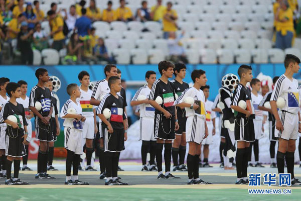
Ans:
<svg viewBox="0 0 301 201"><path fill-rule="evenodd" d="M195 87L190 87L185 89L185 91L178 97L174 105L178 105L184 102L186 97L193 97L195 103L198 104L200 107L197 110L193 110L190 108L185 108L186 117L197 115L200 118L205 119L206 110L205 110L205 95L201 89L196 89Z"/></svg>

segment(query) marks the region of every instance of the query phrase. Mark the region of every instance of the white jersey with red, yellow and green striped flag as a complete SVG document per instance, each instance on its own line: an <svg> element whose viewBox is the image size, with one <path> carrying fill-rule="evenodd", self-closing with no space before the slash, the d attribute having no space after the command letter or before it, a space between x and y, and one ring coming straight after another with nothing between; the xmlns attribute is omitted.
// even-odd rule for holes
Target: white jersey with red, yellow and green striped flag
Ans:
<svg viewBox="0 0 301 201"><path fill-rule="evenodd" d="M85 117L93 117L93 106L90 104L90 99L92 95L92 90L88 89L88 91L84 91L81 88L79 88L81 94L80 97L76 99L77 102L80 103L80 106L83 111L83 115Z"/></svg>

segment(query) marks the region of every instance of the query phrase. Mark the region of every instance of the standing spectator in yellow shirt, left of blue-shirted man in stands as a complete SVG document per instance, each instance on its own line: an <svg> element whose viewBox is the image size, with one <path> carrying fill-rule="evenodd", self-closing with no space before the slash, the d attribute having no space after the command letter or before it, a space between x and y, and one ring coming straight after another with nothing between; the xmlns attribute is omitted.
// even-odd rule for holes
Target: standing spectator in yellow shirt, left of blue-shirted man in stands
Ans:
<svg viewBox="0 0 301 201"><path fill-rule="evenodd" d="M63 33L64 21L63 18L53 10L47 12L49 17L49 26L51 29L50 36L53 38L52 48L60 51L65 47L65 35Z"/></svg>

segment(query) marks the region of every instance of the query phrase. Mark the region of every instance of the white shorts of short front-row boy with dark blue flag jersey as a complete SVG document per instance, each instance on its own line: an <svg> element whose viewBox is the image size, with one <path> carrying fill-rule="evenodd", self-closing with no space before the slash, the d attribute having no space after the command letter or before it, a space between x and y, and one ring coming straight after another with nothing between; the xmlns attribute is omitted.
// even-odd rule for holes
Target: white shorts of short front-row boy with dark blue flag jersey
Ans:
<svg viewBox="0 0 301 201"><path fill-rule="evenodd" d="M83 131L79 129L74 129L71 127L64 128L65 134L65 148L73 151L75 154L83 154Z"/></svg>

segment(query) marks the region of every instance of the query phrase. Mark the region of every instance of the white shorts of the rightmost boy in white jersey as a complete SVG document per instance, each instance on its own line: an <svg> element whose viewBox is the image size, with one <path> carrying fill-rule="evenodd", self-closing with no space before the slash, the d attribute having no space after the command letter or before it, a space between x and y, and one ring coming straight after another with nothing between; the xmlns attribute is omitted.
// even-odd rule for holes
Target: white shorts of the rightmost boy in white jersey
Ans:
<svg viewBox="0 0 301 201"><path fill-rule="evenodd" d="M278 111L283 125L283 131L275 129L275 137L284 140L296 140L298 138L299 119L298 114L291 114L284 111Z"/></svg>

